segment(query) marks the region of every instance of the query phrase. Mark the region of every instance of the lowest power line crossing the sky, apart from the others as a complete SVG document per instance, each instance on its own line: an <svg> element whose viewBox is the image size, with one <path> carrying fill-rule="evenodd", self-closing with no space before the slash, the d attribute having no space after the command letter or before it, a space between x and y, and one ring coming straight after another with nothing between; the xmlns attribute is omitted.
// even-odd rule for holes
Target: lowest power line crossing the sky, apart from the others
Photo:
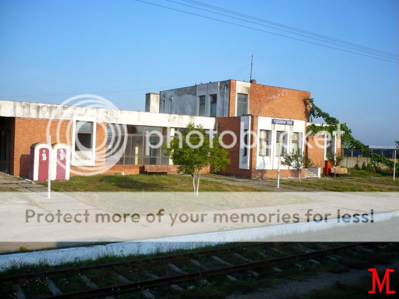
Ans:
<svg viewBox="0 0 399 299"><path fill-rule="evenodd" d="M210 16L205 16L205 15L194 13L194 12L189 12L189 11L185 11L185 10L181 10L181 9L177 9L177 8L172 8L172 7L169 7L169 6L155 4L155 3L151 3L151 2L147 2L147 1L143 1L143 0L136 0L136 1L142 2L142 3L146 3L146 4L150 4L150 5L154 5L154 6L167 8L167 9L170 9L170 10L175 10L175 11L191 14L191 15L200 16L200 17L207 18L207 19L216 20L216 21L223 22L223 23L226 23L226 24L236 25L236 26L239 26L239 27L248 28L248 29L252 29L252 30L256 30L256 31L264 32L264 33L269 33L269 34L282 36L282 37L287 37L287 38L291 38L291 39L294 39L294 40L299 40L299 41L303 41L303 42L307 42L307 43L311 43L311 44L316 44L316 45L320 45L320 46L323 46L323 47L332 48L332 49L336 49L336 50L340 50L340 51L344 51L344 52L348 52L348 53L353 53L353 54L357 54L357 55L362 55L362 56L366 56L366 57L371 57L371 58L375 58L375 59L380 59L380 60L385 60L385 61L389 61L389 62L398 63L397 61L393 61L393 60L389 60L389 59L384 59L384 58L380 58L380 57L376 57L376 56L371 56L371 55L367 55L367 54L357 53L357 52L354 52L354 51L340 49L340 48L337 48L337 47L332 47L332 46L328 46L328 45L325 45L325 44L321 44L321 43L317 43L317 42L313 42L313 41L309 41L309 40L305 40L305 39L301 39L301 38L296 38L296 37L287 36L287 35L284 35L284 34L279 34L279 33L275 33L275 32L262 30L262 29L259 29L259 28L254 28L254 27L250 27L250 26L246 26L246 25L241 25L241 24L237 24L237 23L221 20L221 19L218 19L218 18L210 17Z"/></svg>

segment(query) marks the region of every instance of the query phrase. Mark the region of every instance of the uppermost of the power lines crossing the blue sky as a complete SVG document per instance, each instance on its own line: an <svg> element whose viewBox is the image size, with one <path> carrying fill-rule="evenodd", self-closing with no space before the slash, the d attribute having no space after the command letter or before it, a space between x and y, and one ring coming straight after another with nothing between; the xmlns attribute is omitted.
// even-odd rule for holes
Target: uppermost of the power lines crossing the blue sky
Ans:
<svg viewBox="0 0 399 299"><path fill-rule="evenodd" d="M204 6L204 7L209 7L211 9L215 9L215 10L225 11L225 12L228 12L228 13L231 13L231 14L235 14L235 15L245 16L247 18L258 20L258 21L262 21L262 22L269 23L269 24L273 24L275 26L284 27L284 28L287 28L287 29L291 29L291 30L294 30L294 31L298 31L298 32L302 32L302 33L306 33L306 34L310 34L310 35L314 35L314 36L319 36L319 37L322 37L322 38L325 38L325 39L337 41L337 42L344 43L344 44L353 45L355 47L368 49L368 50L371 50L371 51L374 51L374 52L384 53L384 54L387 54L387 55L391 55L394 58L398 58L398 54L393 54L393 53L381 51L381 50L378 50L378 49L362 46L362 45L359 45L359 44L356 44L356 43L353 43L353 42L348 42L348 41L345 41L345 40L342 40L342 39L337 39L337 38L329 37L329 36L326 36L326 35L323 35L323 34L302 30L302 29L299 29L299 28L296 28L296 27L292 27L292 26L287 26L287 25L284 25L284 24L281 24L281 23L269 21L269 20L262 19L262 18L259 18L259 17L254 17L254 16L251 16L249 14L239 13L239 12L236 12L236 11L233 11L233 10L229 10L229 9L225 9L225 8L222 8L222 7L218 7L218 6L202 3L202 2L199 2L199 1L195 1L195 0L182 0L182 1L190 2L190 3L196 4L196 5L200 5L200 6Z"/></svg>

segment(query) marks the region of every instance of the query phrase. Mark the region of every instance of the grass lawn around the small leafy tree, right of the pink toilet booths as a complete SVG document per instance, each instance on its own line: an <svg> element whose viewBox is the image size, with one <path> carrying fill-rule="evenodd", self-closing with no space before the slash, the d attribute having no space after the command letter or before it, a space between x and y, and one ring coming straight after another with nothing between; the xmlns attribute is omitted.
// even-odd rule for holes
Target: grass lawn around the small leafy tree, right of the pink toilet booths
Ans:
<svg viewBox="0 0 399 299"><path fill-rule="evenodd" d="M41 182L47 186L47 182ZM96 176L73 176L69 181L51 182L51 189L54 191L85 191L85 192L107 192L107 191L173 191L191 192L193 190L192 178L180 175L96 175ZM257 192L262 189L240 185L223 184L200 178L200 192Z"/></svg>

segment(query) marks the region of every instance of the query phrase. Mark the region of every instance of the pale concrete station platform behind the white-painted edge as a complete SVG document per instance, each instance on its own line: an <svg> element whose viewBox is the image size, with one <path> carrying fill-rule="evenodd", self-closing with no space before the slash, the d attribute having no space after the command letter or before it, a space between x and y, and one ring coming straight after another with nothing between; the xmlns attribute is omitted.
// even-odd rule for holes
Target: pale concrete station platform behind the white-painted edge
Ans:
<svg viewBox="0 0 399 299"><path fill-rule="evenodd" d="M203 192L199 197L194 197L187 192L76 192L67 194L52 192L51 198L48 199L46 187L0 173L0 188L2 188L0 190L22 191L0 192L0 241L2 241L0 252L65 247L90 242L143 240L264 226L263 222L237 223L233 221L236 219L236 215L243 213L243 215L267 215L269 222L266 225L275 225L282 224L276 218L277 213L281 215L297 213L300 221L306 222L305 213L308 209L312 209L313 215L329 213L332 215L330 219L336 216L337 209L341 210L341 215L344 213L362 215L362 213L370 213L372 209L375 214L399 211L399 193L292 192L305 188L284 186L284 188L277 189L277 182L272 179L250 180L222 176L220 178L206 176L206 179L225 184L256 187L265 191L290 192L255 192L250 197L246 192ZM314 191L311 188L306 189L308 189L306 191ZM200 203L200 207L198 207L198 203ZM155 214L160 209L164 211L162 222L155 221L158 220L158 217L155 217L152 222L147 221L145 217L147 213ZM42 216L55 215L60 210L63 215L66 213L73 216L80 215L79 219L82 219L81 215L84 211L88 211L91 217L87 224L77 221L46 223L43 221L44 216L41 221L31 218L27 222L27 210ZM128 216L127 218L123 217L123 221L119 222L97 223L93 218L96 213L108 213L112 216L122 212L131 213L127 215L139 213L141 219L133 222ZM194 220L187 222L185 220L184 217L195 219L195 213L198 212L205 212L205 215L208 215L204 222ZM215 223L212 217L215 213L228 213L226 217L234 219ZM176 218L177 216L179 218ZM180 218L180 216L184 217ZM175 217L174 220L172 217ZM125 222L125 219L129 221ZM51 240L54 241L49 242ZM66 240L72 243L65 243Z"/></svg>

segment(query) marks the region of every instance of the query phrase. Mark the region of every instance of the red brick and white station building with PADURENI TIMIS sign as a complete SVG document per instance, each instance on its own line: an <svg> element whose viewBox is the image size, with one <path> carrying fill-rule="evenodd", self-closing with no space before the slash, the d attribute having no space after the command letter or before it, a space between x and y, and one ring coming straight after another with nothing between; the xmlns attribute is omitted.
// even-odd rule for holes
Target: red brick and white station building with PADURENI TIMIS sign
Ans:
<svg viewBox="0 0 399 299"><path fill-rule="evenodd" d="M114 163L106 173L137 174L149 165L173 168L163 151L151 145L162 136L171 138L189 123L224 132L226 145L233 141L227 131L236 134L238 141L229 149L232 163L225 174L275 177L280 147L282 155L293 149L306 152L323 168L327 152L340 151L340 140L306 137L309 114L303 99L310 95L255 80L226 80L148 93L146 112L0 100L0 171L27 176L30 146L46 142L47 134L56 136L54 142L70 146L71 174L74 170L90 174L109 162ZM107 148L115 132L123 148L116 161L109 161ZM293 176L286 167L280 169L283 177Z"/></svg>

